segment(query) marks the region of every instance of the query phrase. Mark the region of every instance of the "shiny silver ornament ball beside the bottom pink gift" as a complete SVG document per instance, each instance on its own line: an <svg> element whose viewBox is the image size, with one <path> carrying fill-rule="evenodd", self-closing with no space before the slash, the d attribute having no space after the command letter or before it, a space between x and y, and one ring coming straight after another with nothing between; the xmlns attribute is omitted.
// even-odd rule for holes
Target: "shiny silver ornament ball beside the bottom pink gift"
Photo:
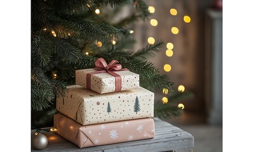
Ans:
<svg viewBox="0 0 256 152"><path fill-rule="evenodd" d="M46 148L47 145L48 145L48 139L44 134L37 134L36 136L34 136L34 139L33 139L34 148L41 150Z"/></svg>

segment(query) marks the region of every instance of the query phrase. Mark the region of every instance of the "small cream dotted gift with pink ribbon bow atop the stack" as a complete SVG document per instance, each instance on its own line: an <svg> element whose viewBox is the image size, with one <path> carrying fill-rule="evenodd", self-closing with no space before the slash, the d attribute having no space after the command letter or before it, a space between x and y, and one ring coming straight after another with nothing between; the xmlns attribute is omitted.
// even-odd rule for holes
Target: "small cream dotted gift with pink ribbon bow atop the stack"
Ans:
<svg viewBox="0 0 256 152"><path fill-rule="evenodd" d="M112 60L107 65L103 58L98 58L95 68L76 70L76 84L100 94L138 88L139 75L117 63Z"/></svg>

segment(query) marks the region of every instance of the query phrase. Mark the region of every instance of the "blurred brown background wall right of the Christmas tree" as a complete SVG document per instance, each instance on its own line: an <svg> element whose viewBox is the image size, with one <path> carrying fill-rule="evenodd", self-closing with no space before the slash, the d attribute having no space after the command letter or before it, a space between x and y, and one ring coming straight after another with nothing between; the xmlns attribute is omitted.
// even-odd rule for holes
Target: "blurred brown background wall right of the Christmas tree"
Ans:
<svg viewBox="0 0 256 152"><path fill-rule="evenodd" d="M135 50L147 45L149 37L172 43L172 56L167 56L165 47L149 61L170 77L175 89L184 85L194 93L193 98L181 101L185 109L180 119L189 123L193 115L194 121L222 124L222 1L149 0L147 4L154 13L149 21L136 23ZM185 22L184 16L191 21ZM169 72L166 64L171 66ZM156 93L160 101L163 97L162 91Z"/></svg>

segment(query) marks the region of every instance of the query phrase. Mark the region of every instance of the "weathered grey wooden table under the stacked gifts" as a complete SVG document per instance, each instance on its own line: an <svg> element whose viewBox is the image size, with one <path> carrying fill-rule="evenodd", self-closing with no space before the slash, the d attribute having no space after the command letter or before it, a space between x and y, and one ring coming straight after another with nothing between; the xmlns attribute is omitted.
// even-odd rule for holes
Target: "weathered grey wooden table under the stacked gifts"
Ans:
<svg viewBox="0 0 256 152"><path fill-rule="evenodd" d="M67 141L54 132L41 131L41 134L44 134L46 137L48 137L48 146L43 150L37 150L31 147L31 151L192 151L192 148L194 148L194 137L191 134L169 124L168 122L164 122L159 118L154 118L154 120L156 136L153 139L109 144L105 146L95 146L90 148L79 148L76 146L76 144ZM31 130L31 135L34 134L34 132L36 132L36 130Z"/></svg>

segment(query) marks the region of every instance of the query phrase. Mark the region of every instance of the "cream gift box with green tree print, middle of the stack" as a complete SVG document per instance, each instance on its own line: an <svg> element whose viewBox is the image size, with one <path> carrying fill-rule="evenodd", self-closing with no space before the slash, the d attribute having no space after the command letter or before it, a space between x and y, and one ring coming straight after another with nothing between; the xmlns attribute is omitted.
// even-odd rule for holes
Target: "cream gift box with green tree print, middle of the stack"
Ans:
<svg viewBox="0 0 256 152"><path fill-rule="evenodd" d="M57 97L56 108L82 125L154 117L154 93L138 87L98 94L80 85L69 85L65 97Z"/></svg>

